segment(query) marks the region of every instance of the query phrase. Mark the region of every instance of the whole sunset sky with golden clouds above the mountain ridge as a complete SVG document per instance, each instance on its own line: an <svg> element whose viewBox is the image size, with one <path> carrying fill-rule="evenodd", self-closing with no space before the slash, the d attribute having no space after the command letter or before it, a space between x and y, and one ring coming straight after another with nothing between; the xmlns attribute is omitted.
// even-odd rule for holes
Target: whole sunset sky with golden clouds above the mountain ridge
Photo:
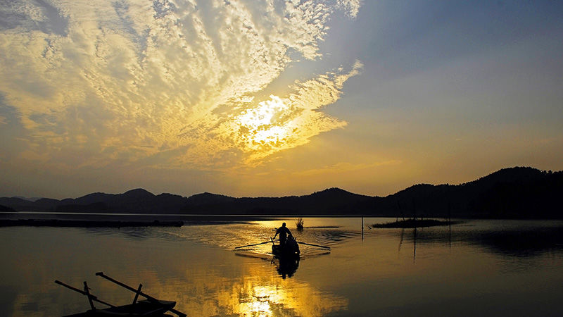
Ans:
<svg viewBox="0 0 563 317"><path fill-rule="evenodd" d="M0 0L0 197L563 170L562 1Z"/></svg>

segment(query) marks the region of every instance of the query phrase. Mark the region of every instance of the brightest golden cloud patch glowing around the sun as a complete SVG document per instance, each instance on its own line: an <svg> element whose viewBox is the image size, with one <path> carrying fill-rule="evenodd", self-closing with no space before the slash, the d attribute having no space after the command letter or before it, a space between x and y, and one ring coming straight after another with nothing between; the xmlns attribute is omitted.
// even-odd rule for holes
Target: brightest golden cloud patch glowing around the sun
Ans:
<svg viewBox="0 0 563 317"><path fill-rule="evenodd" d="M221 162L230 165L222 154L237 153L243 157L243 163L256 164L278 151L307 144L311 137L322 132L343 128L346 122L320 109L334 104L344 82L358 75L361 68L362 63L356 61L348 73L339 68L315 79L296 81L286 97L272 94L259 102L241 101L226 116L199 121L182 135L194 147L177 162L194 163L196 158L205 157L205 161L213 162L214 166Z"/></svg>

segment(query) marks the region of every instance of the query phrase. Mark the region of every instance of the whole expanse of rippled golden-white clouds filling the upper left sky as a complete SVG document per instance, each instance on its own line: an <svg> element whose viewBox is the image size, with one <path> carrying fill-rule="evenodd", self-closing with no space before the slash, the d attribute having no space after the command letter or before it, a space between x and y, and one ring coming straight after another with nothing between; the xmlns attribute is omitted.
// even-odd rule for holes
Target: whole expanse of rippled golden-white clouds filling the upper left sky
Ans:
<svg viewBox="0 0 563 317"><path fill-rule="evenodd" d="M322 106L339 99L359 62L348 73L297 81L286 97L254 99L294 63L295 52L320 58L331 15L355 17L359 6L2 2L0 92L21 114L27 157L43 163L255 163L346 125ZM272 114L270 123L260 123L262 112Z"/></svg>

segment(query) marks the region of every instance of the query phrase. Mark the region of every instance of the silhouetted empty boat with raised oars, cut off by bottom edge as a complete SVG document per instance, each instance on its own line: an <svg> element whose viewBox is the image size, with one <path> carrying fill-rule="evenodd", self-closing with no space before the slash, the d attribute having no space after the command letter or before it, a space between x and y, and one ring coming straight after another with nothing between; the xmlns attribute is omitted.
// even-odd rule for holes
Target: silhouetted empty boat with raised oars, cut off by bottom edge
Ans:
<svg viewBox="0 0 563 317"><path fill-rule="evenodd" d="M65 317L95 317L95 316L151 316L152 317L152 316L170 316L170 315L164 315L168 311L170 311L171 313L175 313L179 317L185 317L186 316L185 313L182 313L182 312L174 309L174 306L176 306L176 302L163 301L163 300L151 297L151 296L145 294L144 292L141 292L141 287L143 287L142 284L139 284L139 287L137 289L134 289L133 287L125 285L124 283L119 282L118 280L114 280L113 278L110 278L108 275L103 274L103 272L98 272L98 273L96 273L96 275L100 276L101 278L105 278L106 280L110 280L111 282L114 282L115 284L120 285L121 287L125 287L127 290L134 292L135 297L133 299L133 303L127 304L127 305L122 305L122 306L115 306L115 305L109 304L107 302L103 302L100 299L98 299L98 297L94 296L93 294L90 294L90 289L87 285L87 282L84 282L84 290L79 290L79 289L72 287L70 285L66 285L65 283L63 283L59 280L56 280L55 282L58 285L63 285L64 287L70 288L70 290L73 290L75 292L79 292L80 294L86 295L88 297L88 301L89 301L89 304L90 304L90 307L91 307L91 309L89 309L88 311L85 311L84 313L75 313L75 314L68 315L68 316L65 316ZM137 299L139 299L139 295L142 296L142 297L145 297L146 299L141 300L141 301L137 301ZM97 309L94 306L94 302L104 304L106 306L109 306L109 308Z"/></svg>

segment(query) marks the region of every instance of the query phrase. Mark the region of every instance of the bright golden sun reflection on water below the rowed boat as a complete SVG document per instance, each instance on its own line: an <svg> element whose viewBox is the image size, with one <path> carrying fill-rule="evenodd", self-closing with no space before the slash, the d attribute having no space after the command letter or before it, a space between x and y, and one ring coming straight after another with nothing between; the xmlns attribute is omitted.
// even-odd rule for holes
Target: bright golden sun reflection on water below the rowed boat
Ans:
<svg viewBox="0 0 563 317"><path fill-rule="evenodd" d="M307 282L272 275L274 267L262 266L265 261L248 260L245 272L229 280L208 273L191 275L194 280L187 280L186 284L196 286L196 292L189 290L191 299L182 309L189 316L322 316L348 305L347 299L320 292ZM276 266L275 270L278 269Z"/></svg>

